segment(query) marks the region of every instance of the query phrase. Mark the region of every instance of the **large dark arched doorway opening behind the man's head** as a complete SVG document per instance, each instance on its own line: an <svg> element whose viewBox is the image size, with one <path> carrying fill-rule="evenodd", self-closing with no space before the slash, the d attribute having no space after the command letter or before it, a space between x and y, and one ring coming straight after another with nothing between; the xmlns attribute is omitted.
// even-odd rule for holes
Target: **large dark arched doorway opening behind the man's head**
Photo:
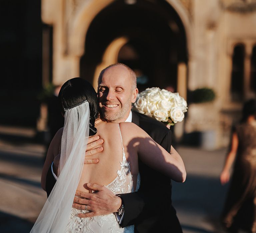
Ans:
<svg viewBox="0 0 256 233"><path fill-rule="evenodd" d="M187 42L182 21L167 1L118 0L101 10L86 34L81 77L95 84L97 68L117 38L127 41L116 56L104 61L106 66L115 62L130 66L140 90L157 86L177 91L178 66L188 62Z"/></svg>

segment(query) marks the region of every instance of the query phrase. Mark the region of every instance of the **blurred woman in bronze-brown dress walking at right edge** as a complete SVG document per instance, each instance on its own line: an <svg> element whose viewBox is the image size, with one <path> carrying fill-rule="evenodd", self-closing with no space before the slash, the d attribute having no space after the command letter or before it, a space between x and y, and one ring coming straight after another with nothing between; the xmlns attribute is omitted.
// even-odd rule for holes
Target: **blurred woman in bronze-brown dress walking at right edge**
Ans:
<svg viewBox="0 0 256 233"><path fill-rule="evenodd" d="M244 104L241 122L236 125L220 181L232 181L224 206L222 222L228 232L256 232L256 100Z"/></svg>

